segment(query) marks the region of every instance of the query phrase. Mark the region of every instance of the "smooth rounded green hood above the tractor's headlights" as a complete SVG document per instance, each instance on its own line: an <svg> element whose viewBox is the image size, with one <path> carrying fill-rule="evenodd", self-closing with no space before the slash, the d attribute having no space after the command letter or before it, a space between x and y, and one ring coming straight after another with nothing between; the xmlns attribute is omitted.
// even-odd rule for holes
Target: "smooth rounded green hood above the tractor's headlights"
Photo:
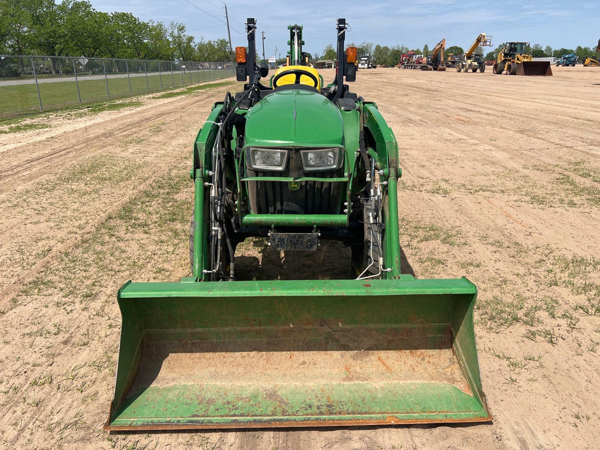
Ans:
<svg viewBox="0 0 600 450"><path fill-rule="evenodd" d="M337 147L344 144L340 110L317 92L286 89L267 95L246 116L245 145Z"/></svg>

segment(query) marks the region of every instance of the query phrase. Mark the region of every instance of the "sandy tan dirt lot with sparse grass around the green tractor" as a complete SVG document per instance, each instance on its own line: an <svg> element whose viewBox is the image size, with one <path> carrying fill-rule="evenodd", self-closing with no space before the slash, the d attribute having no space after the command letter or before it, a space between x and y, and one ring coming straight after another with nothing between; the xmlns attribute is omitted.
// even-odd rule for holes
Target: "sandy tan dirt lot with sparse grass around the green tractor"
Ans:
<svg viewBox="0 0 600 450"><path fill-rule="evenodd" d="M491 68L488 68L491 69ZM189 273L191 142L227 89L32 121L0 134L0 442L5 448L593 449L600 435L600 68L553 77L377 68L400 146L403 271L466 275L494 421L202 433L103 431L118 355L116 291ZM323 71L326 80L331 70ZM244 277L346 276L238 249ZM243 257L242 257L243 256ZM325 274L325 275L323 275ZM337 275L343 274L343 275Z"/></svg>

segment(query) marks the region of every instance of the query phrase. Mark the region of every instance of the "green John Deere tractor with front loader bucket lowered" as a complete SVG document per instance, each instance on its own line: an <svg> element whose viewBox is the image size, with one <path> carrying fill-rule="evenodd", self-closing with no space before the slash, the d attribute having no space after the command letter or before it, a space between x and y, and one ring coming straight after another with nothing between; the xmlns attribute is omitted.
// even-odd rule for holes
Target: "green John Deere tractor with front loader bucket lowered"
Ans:
<svg viewBox="0 0 600 450"><path fill-rule="evenodd" d="M400 272L398 144L377 105L344 84L356 79L346 20L326 86L302 57L302 28L289 29L290 65L263 83L247 20L247 52L236 49L244 91L214 104L194 142L191 277L119 290L105 430L491 420L475 285ZM288 255L335 239L352 271L238 280L246 238Z"/></svg>

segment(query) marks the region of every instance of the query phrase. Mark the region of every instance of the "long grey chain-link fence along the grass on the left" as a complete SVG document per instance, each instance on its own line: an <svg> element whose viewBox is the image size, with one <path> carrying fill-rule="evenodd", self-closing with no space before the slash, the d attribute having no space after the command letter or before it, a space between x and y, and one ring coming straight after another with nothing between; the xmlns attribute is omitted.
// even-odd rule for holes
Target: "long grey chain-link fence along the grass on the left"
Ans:
<svg viewBox="0 0 600 450"><path fill-rule="evenodd" d="M0 55L0 117L235 76L231 62Z"/></svg>

